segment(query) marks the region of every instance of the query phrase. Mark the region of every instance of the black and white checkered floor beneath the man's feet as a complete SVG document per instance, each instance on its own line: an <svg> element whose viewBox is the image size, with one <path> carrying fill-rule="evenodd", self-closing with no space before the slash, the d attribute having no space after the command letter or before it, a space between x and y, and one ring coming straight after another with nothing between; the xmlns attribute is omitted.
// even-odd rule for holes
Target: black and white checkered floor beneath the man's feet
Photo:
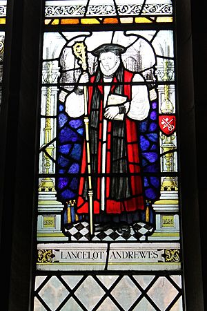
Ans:
<svg viewBox="0 0 207 311"><path fill-rule="evenodd" d="M89 241L89 225L86 221L75 223L65 234L71 237L71 241ZM95 232L92 241L146 241L147 236L153 232L153 227L146 223L134 223L130 226L130 232L119 234L116 229L108 229L105 232Z"/></svg>

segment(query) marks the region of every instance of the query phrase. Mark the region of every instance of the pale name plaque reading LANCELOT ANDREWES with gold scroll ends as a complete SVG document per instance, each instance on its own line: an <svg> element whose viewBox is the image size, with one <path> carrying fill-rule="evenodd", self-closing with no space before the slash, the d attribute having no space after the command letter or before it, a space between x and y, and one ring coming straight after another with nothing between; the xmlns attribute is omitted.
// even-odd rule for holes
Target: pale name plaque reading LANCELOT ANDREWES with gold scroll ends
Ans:
<svg viewBox="0 0 207 311"><path fill-rule="evenodd" d="M37 270L179 270L179 243L41 243ZM164 267L163 267L164 266Z"/></svg>

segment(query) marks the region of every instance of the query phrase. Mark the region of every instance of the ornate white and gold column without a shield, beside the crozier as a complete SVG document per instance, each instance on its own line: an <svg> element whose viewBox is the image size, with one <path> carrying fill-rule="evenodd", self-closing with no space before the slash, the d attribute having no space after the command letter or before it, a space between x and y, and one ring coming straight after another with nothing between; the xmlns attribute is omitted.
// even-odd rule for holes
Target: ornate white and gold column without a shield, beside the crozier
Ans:
<svg viewBox="0 0 207 311"><path fill-rule="evenodd" d="M43 128L43 144L41 149L43 150L43 158L41 167L46 177L41 179L39 185L39 200L38 200L38 218L37 218L37 239L38 241L68 241L68 238L64 236L61 230L61 214L63 211L63 205L57 201L57 192L55 191L55 179L50 178L49 174L53 173L52 157L55 152L55 146L53 141L53 131L51 124L51 109L55 107L57 99L55 96L56 91L52 91L52 82L55 79L57 70L52 71L52 62L48 62L46 68L44 68L46 75L43 73L43 77L46 77L46 83L49 86L46 87L45 104L45 123ZM43 71L44 71L43 70ZM53 106L52 106L53 105ZM55 109L52 109L54 111ZM53 124L54 127L54 124Z"/></svg>

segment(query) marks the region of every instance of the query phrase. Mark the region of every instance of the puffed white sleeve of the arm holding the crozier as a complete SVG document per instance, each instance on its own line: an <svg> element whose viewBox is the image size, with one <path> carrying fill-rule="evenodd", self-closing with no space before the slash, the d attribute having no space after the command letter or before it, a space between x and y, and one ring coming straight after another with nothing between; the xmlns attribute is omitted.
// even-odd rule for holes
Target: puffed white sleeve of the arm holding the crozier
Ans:
<svg viewBox="0 0 207 311"><path fill-rule="evenodd" d="M72 92L66 98L66 113L70 117L80 117L84 114L84 95Z"/></svg>

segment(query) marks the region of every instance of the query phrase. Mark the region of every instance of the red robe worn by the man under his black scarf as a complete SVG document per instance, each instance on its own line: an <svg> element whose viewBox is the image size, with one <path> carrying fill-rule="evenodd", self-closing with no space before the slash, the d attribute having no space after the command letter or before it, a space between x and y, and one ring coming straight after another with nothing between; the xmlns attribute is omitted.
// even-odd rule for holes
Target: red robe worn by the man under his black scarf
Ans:
<svg viewBox="0 0 207 311"><path fill-rule="evenodd" d="M124 82L131 82L133 73L130 73L128 70L124 69ZM90 78L90 82L95 82L95 75ZM115 90L115 84L113 82L117 82L117 78L114 77L112 79L112 86L110 88L110 93L113 93ZM99 91L103 94L103 85L98 85ZM88 115L90 115L91 110L91 102L92 95L94 93L94 86L88 87ZM129 100L131 100L131 86L129 84L124 84L124 95L128 96ZM99 140L98 140L98 149L97 149L97 172L101 174L101 138L103 133L103 100L100 102L100 112L99 112ZM111 128L112 122L108 121L107 125L107 147L106 147L106 174L111 173L111 152L113 146L111 145ZM121 121L118 121L121 122ZM131 197L115 200L110 198L110 176L106 175L106 207L105 212L107 214L121 214L121 212L130 212L137 211L138 209L144 209L144 198L143 198L143 187L142 180L139 174L133 175L133 173L140 172L140 164L139 164L139 147L138 147L138 135L137 135L137 126L134 120L131 120L127 117L124 118L125 122L125 131L126 131L126 142L127 142L127 164L128 164L128 172L130 179L130 189L131 189ZM87 164L86 164L86 142L83 144L83 156L82 156L82 164L81 164L81 174L87 174ZM130 175L131 174L131 175ZM87 177L81 176L79 181L79 196L77 200L77 213L78 214L88 214L88 200L86 200L83 196L84 185L87 180ZM101 177L97 177L96 185L92 185L92 187L97 187L97 196L93 201L93 210L95 214L99 214L100 205L101 205Z"/></svg>

